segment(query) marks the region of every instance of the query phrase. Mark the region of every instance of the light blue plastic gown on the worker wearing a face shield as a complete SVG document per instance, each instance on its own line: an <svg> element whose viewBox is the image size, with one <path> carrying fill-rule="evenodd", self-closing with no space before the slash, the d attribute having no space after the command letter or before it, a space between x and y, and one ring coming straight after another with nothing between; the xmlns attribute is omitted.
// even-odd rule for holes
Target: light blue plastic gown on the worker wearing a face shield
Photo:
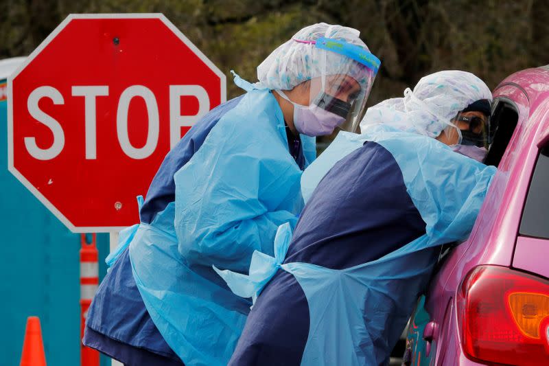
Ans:
<svg viewBox="0 0 549 366"><path fill-rule="evenodd" d="M252 253L272 255L277 227L295 225L303 209L303 167L289 153L279 104L270 91L236 82L248 93L174 174L175 201L141 222L130 243L143 302L185 365L226 365L251 305L212 264L246 273ZM301 142L307 165L314 138Z"/></svg>

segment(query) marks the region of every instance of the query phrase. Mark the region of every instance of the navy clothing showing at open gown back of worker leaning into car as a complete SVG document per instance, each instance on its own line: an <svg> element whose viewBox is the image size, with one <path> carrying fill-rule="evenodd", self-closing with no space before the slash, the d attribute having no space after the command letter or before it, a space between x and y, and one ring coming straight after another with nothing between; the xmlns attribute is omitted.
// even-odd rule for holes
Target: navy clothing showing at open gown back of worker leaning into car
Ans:
<svg viewBox="0 0 549 366"><path fill-rule="evenodd" d="M349 268L424 233L425 222L393 155L369 141L320 182L303 209L285 263ZM279 269L248 315L230 365L299 365L308 336L305 293L294 275Z"/></svg>

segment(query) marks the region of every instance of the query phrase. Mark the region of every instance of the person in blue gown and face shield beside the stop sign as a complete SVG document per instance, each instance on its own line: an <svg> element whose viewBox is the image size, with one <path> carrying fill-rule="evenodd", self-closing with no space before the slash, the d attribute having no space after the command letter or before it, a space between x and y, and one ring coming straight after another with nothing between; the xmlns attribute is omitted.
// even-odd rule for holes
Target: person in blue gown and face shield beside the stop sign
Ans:
<svg viewBox="0 0 549 366"><path fill-rule="evenodd" d="M212 265L248 273L303 209L314 137L358 124L379 67L349 27L303 28L257 68L245 95L213 109L167 155L139 225L93 299L84 344L126 365L226 365L250 310Z"/></svg>

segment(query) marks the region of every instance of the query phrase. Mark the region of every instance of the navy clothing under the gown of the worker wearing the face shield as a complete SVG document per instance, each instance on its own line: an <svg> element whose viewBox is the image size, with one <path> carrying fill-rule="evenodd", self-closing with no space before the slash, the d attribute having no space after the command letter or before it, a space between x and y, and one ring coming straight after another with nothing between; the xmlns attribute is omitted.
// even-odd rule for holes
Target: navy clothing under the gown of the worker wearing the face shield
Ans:
<svg viewBox="0 0 549 366"><path fill-rule="evenodd" d="M174 202L174 174L198 151L219 119L242 98L214 108L167 154L139 211L141 222L152 222L157 213ZM301 141L287 132L290 154L303 169ZM132 275L128 249L121 252L97 290L86 319L83 343L126 365L183 365L143 304Z"/></svg>

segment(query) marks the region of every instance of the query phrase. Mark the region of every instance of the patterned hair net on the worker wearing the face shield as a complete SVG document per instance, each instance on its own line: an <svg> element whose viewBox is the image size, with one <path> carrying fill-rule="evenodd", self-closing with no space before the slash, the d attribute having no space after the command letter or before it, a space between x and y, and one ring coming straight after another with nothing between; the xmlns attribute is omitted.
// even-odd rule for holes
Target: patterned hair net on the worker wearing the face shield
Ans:
<svg viewBox="0 0 549 366"><path fill-rule="evenodd" d="M335 38L362 47L369 52L359 36L358 30L342 25L318 23L304 27L294 34L290 41L280 45L261 62L257 67L258 84L268 89L290 90L297 84L312 78L341 73L342 65L349 65L346 73L357 82L361 84L367 82L367 70L360 67L358 62L349 62L347 56L326 51L308 43L321 37ZM320 62L323 57L326 57L325 62Z"/></svg>

